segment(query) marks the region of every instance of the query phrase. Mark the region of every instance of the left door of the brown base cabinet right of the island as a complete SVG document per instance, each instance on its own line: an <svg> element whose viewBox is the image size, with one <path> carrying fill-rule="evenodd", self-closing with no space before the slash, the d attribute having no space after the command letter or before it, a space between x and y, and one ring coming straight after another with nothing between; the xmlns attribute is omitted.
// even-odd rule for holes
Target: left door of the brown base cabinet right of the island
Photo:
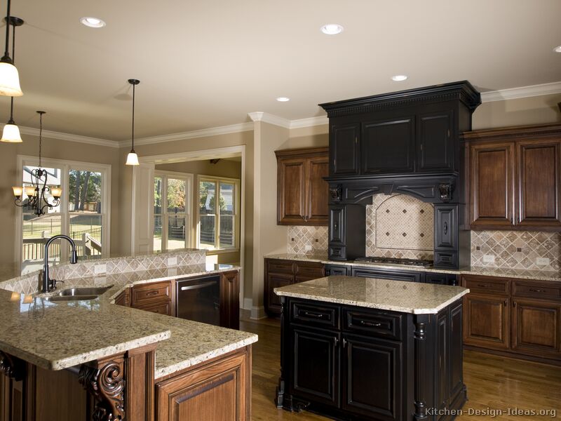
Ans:
<svg viewBox="0 0 561 421"><path fill-rule="evenodd" d="M469 293L464 312L464 344L492 349L510 347L508 298Z"/></svg>

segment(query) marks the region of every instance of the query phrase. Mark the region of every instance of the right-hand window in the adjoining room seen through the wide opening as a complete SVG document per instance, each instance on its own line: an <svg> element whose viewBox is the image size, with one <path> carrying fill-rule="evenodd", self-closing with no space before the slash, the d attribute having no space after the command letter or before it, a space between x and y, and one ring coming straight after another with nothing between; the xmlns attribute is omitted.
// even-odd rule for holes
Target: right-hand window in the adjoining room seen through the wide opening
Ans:
<svg viewBox="0 0 561 421"><path fill-rule="evenodd" d="M198 248L237 249L240 180L201 176L198 180Z"/></svg>

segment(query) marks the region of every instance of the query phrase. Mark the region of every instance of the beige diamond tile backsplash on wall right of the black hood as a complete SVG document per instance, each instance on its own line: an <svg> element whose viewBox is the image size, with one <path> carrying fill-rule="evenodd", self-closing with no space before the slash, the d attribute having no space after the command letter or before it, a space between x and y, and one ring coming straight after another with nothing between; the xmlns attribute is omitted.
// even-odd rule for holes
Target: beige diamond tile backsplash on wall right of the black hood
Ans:
<svg viewBox="0 0 561 421"><path fill-rule="evenodd" d="M486 261L492 260L491 256L494 262ZM472 231L471 266L558 271L561 233Z"/></svg>

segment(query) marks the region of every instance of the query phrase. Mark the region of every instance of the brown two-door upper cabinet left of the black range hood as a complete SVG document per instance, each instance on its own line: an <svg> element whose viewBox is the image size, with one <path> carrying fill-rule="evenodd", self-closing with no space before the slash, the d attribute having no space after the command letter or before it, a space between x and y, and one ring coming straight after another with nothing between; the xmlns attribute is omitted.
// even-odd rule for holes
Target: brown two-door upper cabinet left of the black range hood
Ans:
<svg viewBox="0 0 561 421"><path fill-rule="evenodd" d="M276 151L277 224L327 225L326 147Z"/></svg>

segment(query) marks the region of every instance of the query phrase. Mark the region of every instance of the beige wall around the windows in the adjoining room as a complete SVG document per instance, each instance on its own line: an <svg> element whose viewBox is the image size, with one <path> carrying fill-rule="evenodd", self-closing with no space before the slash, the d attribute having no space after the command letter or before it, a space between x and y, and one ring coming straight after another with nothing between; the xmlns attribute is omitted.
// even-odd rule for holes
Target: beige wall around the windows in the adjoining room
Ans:
<svg viewBox="0 0 561 421"><path fill-rule="evenodd" d="M196 233L198 221L196 217L196 206L198 206L198 186L196 185L198 175L211 175L213 177L237 178L241 180L241 161L231 161L227 159L220 159L217 163L210 163L210 160L204 161L189 161L177 163L162 163L156 165L156 171L174 171L175 173L188 173L194 176L194 188L191 192L191 200L193 215L191 232ZM239 222L236 222L238 224ZM208 254L214 254L208 252ZM235 253L218 253L218 263L238 263L240 262L240 252Z"/></svg>

